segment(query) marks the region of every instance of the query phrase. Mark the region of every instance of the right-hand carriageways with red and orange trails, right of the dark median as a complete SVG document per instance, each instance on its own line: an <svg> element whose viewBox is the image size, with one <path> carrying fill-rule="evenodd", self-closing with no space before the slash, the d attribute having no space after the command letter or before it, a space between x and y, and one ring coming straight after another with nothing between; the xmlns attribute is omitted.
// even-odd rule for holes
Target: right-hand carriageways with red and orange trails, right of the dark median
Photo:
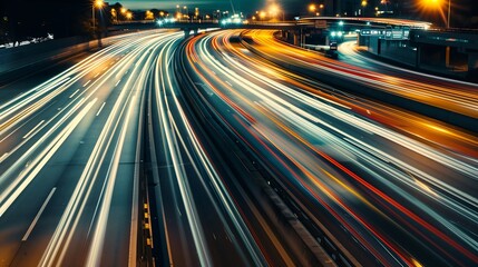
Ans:
<svg viewBox="0 0 478 267"><path fill-rule="evenodd" d="M412 91L414 81L332 63L275 41L270 31L252 32L246 43L240 34L221 31L188 43L197 93L295 199L300 216L323 224L364 266L478 263L476 136L334 89L320 71L339 69L341 78L350 73L351 87L396 88L418 101L431 101L423 97L431 85ZM314 69L318 77L284 66ZM458 91L432 103L475 117L476 95Z"/></svg>

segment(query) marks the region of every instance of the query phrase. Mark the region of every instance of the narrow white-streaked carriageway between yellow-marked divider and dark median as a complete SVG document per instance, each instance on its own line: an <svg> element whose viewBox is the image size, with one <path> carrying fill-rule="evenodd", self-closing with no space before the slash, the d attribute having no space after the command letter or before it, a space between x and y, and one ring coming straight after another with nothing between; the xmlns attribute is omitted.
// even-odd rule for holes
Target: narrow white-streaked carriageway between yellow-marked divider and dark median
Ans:
<svg viewBox="0 0 478 267"><path fill-rule="evenodd" d="M165 240L175 266L227 263L265 265L265 259L182 102L172 61L181 39L170 39L152 68L148 132L156 196L162 198Z"/></svg>

